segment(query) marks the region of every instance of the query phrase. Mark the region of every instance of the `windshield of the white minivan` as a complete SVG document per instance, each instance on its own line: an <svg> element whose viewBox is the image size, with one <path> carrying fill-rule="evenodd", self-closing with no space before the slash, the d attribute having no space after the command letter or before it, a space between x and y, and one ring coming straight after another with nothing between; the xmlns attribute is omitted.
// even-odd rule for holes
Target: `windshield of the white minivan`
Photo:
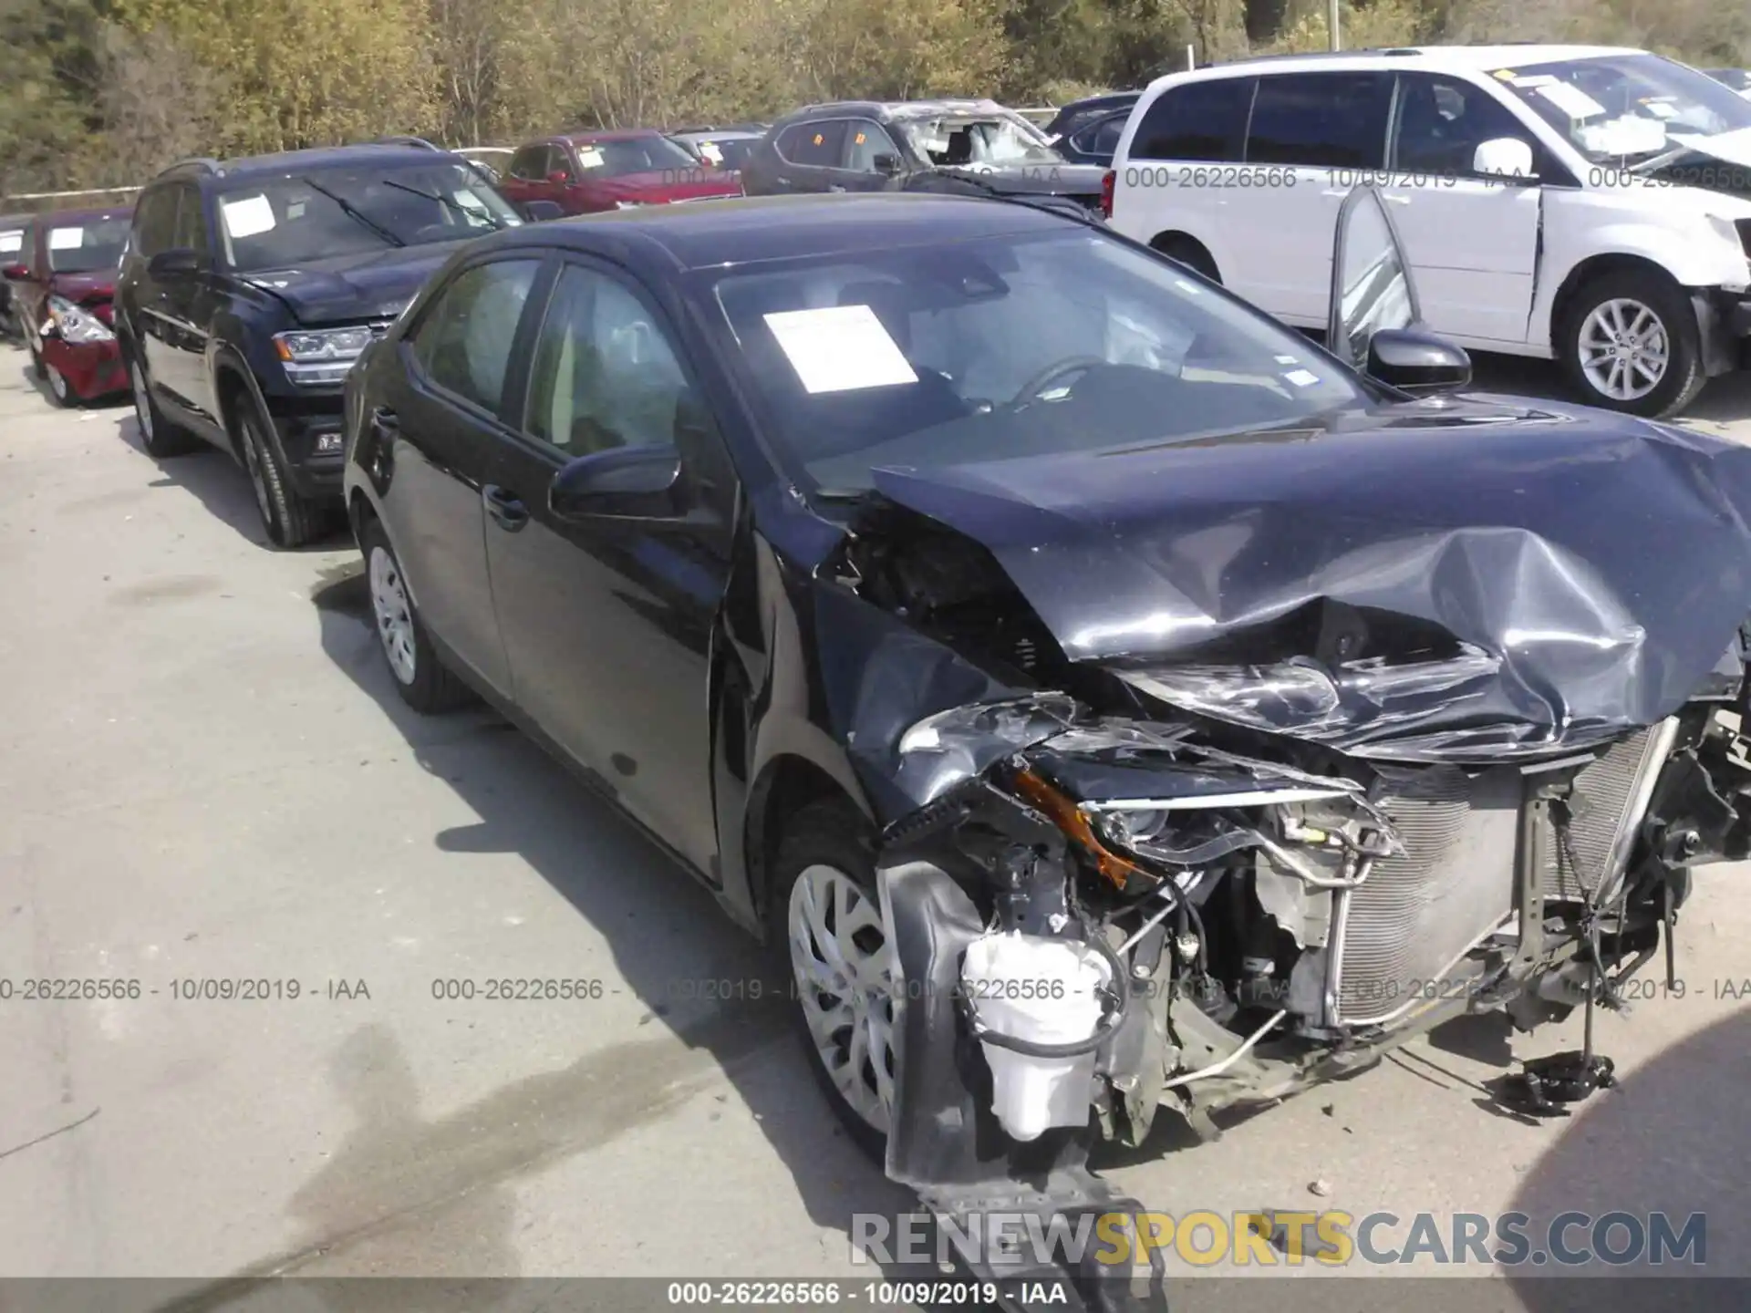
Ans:
<svg viewBox="0 0 1751 1313"><path fill-rule="evenodd" d="M1634 165L1686 138L1751 128L1751 102L1658 54L1604 54L1495 74L1595 165Z"/></svg>

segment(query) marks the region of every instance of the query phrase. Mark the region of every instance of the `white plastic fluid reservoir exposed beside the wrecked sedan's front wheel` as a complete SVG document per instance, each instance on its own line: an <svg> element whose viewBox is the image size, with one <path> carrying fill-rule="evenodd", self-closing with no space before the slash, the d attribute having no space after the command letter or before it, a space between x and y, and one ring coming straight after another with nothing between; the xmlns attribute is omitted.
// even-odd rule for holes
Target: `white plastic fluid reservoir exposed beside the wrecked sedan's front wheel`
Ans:
<svg viewBox="0 0 1751 1313"><path fill-rule="evenodd" d="M984 935L967 945L961 980L982 1031L1033 1045L1075 1045L1101 1024L1112 972L1093 949L1019 931ZM981 1036L991 1066L991 1110L1014 1140L1037 1140L1051 1126L1086 1126L1094 1049L1037 1057Z"/></svg>

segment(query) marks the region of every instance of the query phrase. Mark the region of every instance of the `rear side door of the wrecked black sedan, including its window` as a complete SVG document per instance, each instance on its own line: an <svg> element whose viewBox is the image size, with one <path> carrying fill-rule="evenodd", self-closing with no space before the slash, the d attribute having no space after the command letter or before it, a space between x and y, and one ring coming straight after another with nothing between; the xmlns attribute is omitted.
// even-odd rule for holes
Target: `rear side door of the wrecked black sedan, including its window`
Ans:
<svg viewBox="0 0 1751 1313"><path fill-rule="evenodd" d="M364 417L389 445L383 515L427 628L501 697L511 678L487 579L483 492L510 432L506 383L522 359L524 308L541 259L466 264L401 340L404 368Z"/></svg>

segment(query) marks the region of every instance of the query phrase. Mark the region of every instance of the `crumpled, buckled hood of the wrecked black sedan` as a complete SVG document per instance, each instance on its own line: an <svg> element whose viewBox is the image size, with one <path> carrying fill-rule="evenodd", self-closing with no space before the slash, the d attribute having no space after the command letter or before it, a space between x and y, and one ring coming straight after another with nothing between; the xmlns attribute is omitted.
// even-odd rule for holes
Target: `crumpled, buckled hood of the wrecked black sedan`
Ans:
<svg viewBox="0 0 1751 1313"><path fill-rule="evenodd" d="M1642 420L1473 397L876 481L1068 658L1357 756L1550 755L1739 679L1751 450Z"/></svg>

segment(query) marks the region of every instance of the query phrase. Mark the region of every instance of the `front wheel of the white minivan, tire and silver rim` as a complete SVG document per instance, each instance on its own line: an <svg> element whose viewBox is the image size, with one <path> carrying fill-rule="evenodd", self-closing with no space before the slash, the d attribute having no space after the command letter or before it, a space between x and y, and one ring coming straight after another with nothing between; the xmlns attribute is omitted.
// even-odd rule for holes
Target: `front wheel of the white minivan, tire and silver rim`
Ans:
<svg viewBox="0 0 1751 1313"><path fill-rule="evenodd" d="M1606 354L1620 350L1625 355ZM1655 270L1616 270L1586 282L1564 310L1557 352L1581 401L1644 418L1677 415L1709 382L1690 298Z"/></svg>

